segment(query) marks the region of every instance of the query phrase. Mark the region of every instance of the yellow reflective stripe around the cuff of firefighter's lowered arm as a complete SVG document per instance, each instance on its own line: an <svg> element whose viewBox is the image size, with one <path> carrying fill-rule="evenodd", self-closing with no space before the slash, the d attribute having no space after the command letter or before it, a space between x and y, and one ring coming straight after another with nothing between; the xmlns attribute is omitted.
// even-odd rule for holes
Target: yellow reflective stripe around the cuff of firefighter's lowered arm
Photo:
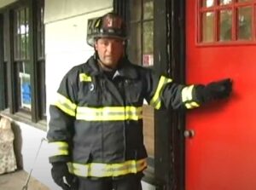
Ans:
<svg viewBox="0 0 256 190"><path fill-rule="evenodd" d="M68 144L65 141L54 141L48 143L49 156L68 155Z"/></svg>

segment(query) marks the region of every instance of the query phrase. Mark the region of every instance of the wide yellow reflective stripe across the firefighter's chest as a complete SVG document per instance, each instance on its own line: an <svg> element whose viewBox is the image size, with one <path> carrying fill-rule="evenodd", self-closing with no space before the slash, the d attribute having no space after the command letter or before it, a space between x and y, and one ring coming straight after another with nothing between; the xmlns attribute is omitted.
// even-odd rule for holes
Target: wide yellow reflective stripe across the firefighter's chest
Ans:
<svg viewBox="0 0 256 190"><path fill-rule="evenodd" d="M143 118L143 107L77 107L77 119L85 121L123 121Z"/></svg>

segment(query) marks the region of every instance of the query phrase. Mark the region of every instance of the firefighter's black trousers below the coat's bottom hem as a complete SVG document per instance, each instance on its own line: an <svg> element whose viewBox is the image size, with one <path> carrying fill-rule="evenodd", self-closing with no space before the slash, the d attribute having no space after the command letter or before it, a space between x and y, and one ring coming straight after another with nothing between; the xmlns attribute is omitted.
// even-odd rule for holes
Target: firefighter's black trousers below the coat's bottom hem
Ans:
<svg viewBox="0 0 256 190"><path fill-rule="evenodd" d="M79 190L142 190L142 177L141 173L117 178L79 178Z"/></svg>

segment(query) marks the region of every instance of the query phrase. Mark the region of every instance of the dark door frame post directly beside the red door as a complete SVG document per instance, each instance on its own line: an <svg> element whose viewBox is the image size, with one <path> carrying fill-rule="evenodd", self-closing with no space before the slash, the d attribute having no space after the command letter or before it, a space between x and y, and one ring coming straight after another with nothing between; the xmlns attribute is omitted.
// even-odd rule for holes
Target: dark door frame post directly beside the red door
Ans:
<svg viewBox="0 0 256 190"><path fill-rule="evenodd" d="M185 37L185 0L166 0L170 3L168 20L169 27L167 28L170 36L169 39L169 76L177 83L186 83L186 37ZM173 148L174 155L174 172L171 180L174 180L175 186L170 186L175 190L184 190L185 188L185 139L183 132L185 130L185 111L172 112L172 135L173 140L170 147ZM170 127L170 125L169 125ZM171 181L171 182L172 182Z"/></svg>

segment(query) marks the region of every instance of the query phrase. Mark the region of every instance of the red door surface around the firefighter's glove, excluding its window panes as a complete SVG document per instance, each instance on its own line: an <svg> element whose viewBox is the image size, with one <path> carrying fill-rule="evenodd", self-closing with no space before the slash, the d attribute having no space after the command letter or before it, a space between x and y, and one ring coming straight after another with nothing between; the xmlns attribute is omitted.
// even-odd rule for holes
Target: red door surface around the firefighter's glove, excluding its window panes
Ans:
<svg viewBox="0 0 256 190"><path fill-rule="evenodd" d="M186 2L187 83L232 78L230 99L187 114L186 190L256 189L256 46L196 45L196 0Z"/></svg>

